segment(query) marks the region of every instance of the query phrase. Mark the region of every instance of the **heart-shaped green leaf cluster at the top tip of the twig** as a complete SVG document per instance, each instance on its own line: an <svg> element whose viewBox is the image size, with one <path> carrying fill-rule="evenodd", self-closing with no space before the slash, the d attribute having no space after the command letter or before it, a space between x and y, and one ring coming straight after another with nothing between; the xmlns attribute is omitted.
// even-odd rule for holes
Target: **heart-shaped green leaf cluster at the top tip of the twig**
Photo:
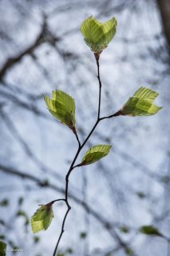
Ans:
<svg viewBox="0 0 170 256"><path fill-rule="evenodd" d="M116 34L117 20L111 18L102 23L90 16L82 22L80 30L86 44L94 53L100 53L109 45Z"/></svg>

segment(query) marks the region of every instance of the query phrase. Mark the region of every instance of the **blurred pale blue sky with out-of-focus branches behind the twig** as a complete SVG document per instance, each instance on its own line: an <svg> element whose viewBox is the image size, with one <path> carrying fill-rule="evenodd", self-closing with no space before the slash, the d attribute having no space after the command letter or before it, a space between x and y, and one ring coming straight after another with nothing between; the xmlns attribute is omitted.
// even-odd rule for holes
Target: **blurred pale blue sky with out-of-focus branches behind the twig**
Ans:
<svg viewBox="0 0 170 256"><path fill-rule="evenodd" d="M85 146L111 143L107 158L73 170L72 210L59 254L169 256L170 2L168 0L0 1L0 239L26 256L52 255L66 207L53 206L45 232L30 229L38 204L62 198L77 150L72 132L46 110L42 94L75 98L81 142L97 117L97 67L79 27L89 15L115 16L117 34L101 54L101 115L116 112L140 87L160 93L152 117L105 120ZM7 255L12 255L8 252Z"/></svg>

